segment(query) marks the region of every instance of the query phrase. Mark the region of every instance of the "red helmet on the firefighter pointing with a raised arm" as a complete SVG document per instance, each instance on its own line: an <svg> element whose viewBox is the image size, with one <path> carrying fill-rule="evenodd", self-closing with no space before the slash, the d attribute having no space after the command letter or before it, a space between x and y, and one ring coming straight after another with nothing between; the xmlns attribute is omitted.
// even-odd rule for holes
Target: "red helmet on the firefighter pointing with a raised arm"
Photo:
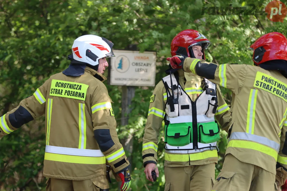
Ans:
<svg viewBox="0 0 287 191"><path fill-rule="evenodd" d="M287 60L287 39L279 32L267 33L258 38L249 50L253 50L255 65L269 60Z"/></svg>

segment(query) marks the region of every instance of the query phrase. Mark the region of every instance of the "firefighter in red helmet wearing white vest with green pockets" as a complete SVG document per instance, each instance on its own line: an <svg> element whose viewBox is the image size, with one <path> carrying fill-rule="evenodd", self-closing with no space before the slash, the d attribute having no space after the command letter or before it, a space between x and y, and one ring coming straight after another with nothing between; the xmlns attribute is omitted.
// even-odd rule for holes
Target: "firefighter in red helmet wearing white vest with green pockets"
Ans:
<svg viewBox="0 0 287 191"><path fill-rule="evenodd" d="M210 41L195 30L181 31L171 42L171 55L205 59ZM151 96L143 137L146 178L158 176L158 137L164 120L165 190L210 191L218 161L218 123L227 131L231 115L219 87L182 69L168 69ZM218 123L215 121L217 119Z"/></svg>

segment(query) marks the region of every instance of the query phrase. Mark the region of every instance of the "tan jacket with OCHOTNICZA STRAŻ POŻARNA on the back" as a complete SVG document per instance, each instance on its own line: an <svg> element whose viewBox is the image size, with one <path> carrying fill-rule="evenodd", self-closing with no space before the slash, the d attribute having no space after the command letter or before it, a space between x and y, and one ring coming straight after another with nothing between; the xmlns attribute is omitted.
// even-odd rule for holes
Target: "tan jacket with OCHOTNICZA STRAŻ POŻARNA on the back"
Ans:
<svg viewBox="0 0 287 191"><path fill-rule="evenodd" d="M98 79L97 79L98 78ZM86 67L83 75L52 75L36 92L0 118L0 137L45 115L44 176L86 180L129 166L116 132L106 78Z"/></svg>

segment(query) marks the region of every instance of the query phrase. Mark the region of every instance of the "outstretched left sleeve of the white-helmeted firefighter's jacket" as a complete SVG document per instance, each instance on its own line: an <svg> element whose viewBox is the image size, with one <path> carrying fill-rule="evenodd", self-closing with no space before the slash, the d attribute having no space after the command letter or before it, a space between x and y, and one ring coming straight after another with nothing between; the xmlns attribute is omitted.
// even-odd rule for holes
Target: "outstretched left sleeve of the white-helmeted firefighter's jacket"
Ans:
<svg viewBox="0 0 287 191"><path fill-rule="evenodd" d="M0 138L12 133L22 125L45 113L45 102L49 82L50 79L46 80L32 96L23 99L18 107L0 117Z"/></svg>

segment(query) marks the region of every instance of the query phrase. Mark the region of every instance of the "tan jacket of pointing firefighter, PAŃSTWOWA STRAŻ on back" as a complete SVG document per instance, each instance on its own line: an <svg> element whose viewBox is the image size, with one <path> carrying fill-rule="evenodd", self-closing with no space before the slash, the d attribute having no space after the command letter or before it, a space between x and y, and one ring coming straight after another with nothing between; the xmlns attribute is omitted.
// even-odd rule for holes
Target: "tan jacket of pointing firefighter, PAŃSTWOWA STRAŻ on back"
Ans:
<svg viewBox="0 0 287 191"><path fill-rule="evenodd" d="M183 70L233 92L226 154L273 174L276 162L287 167L287 79L279 71L191 58L185 59Z"/></svg>

